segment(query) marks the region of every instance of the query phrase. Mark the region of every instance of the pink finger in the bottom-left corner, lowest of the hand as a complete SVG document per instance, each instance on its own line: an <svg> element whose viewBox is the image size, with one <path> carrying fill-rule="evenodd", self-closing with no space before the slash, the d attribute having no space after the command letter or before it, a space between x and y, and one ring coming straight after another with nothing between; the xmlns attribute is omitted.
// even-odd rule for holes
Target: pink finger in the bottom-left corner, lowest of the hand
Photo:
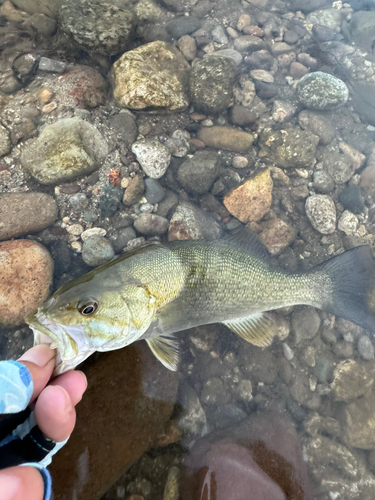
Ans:
<svg viewBox="0 0 375 500"><path fill-rule="evenodd" d="M10 467L0 471L0 500L42 500L44 483L34 467Z"/></svg>

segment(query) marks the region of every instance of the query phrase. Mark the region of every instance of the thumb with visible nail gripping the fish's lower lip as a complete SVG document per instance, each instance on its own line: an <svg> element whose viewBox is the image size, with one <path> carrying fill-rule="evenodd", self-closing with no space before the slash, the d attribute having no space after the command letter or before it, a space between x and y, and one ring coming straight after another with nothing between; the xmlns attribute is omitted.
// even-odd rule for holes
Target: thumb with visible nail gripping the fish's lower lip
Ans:
<svg viewBox="0 0 375 500"><path fill-rule="evenodd" d="M18 360L24 364L33 379L33 401L46 386L55 366L56 351L47 344L40 344L26 351Z"/></svg>

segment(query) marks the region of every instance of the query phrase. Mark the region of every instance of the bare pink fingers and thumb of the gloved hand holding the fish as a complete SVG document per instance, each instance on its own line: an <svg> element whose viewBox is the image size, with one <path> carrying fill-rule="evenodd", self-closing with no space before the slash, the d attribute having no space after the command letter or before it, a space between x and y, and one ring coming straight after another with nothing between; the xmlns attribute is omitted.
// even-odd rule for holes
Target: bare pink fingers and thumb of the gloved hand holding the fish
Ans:
<svg viewBox="0 0 375 500"><path fill-rule="evenodd" d="M82 372L71 370L49 382L55 365L55 353L42 344L29 349L18 361L26 366L31 375L33 385L30 403L34 402L37 426L44 437L60 443L73 431L75 405L81 400L87 381ZM2 399L9 396L12 388L7 389L6 395L2 391L0 408ZM46 484L46 475L41 474L36 467L16 466L0 470L0 500L47 500L46 486L50 488Z"/></svg>

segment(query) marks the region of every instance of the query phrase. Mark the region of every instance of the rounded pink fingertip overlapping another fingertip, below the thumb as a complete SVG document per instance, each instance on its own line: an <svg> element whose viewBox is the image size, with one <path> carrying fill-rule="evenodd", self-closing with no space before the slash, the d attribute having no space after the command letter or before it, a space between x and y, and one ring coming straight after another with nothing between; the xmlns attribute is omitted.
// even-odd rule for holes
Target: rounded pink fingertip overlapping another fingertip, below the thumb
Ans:
<svg viewBox="0 0 375 500"><path fill-rule="evenodd" d="M59 385L47 386L36 401L35 418L47 438L56 442L67 439L76 422L76 412L68 392Z"/></svg>

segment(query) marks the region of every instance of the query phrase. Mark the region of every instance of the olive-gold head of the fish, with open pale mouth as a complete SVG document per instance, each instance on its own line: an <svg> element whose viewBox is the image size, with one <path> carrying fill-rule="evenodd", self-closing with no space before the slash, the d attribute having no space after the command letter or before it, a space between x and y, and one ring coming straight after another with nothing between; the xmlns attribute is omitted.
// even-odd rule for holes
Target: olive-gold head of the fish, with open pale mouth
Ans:
<svg viewBox="0 0 375 500"><path fill-rule="evenodd" d="M120 286L115 280L108 285L98 278L73 280L26 318L34 345L57 349L55 374L75 368L95 351L131 344L150 324L150 297L144 287Z"/></svg>

